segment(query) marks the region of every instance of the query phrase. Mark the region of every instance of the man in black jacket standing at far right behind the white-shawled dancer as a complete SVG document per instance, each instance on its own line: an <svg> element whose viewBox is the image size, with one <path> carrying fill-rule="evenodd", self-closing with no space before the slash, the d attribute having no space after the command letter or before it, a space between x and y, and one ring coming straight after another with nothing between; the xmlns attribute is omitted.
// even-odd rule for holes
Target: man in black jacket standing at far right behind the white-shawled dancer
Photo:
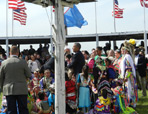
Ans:
<svg viewBox="0 0 148 114"><path fill-rule="evenodd" d="M143 96L146 96L146 59L145 56L139 54L139 49L135 49L135 66L136 78L142 89Z"/></svg>

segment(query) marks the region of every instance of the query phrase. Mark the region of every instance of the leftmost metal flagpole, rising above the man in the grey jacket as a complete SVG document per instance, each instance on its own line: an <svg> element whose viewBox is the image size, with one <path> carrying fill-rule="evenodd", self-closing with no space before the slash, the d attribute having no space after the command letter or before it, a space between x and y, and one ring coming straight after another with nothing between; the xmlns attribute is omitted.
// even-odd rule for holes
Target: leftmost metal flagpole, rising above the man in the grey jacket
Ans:
<svg viewBox="0 0 148 114"><path fill-rule="evenodd" d="M7 58L9 57L9 47L8 47L8 0L6 0L6 51L7 51Z"/></svg>

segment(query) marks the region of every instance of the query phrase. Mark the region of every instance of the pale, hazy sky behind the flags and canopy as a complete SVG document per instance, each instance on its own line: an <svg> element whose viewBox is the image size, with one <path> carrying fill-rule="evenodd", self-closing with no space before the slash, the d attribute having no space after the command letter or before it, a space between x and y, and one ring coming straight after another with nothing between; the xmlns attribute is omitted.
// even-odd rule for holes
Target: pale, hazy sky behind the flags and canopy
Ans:
<svg viewBox="0 0 148 114"><path fill-rule="evenodd" d="M131 32L144 30L144 8L140 5L140 0L118 0L119 8L124 8L123 18L116 19L117 32ZM20 25L18 21L14 21L14 36L36 36L50 35L51 26L46 14L46 10L51 20L50 7L46 9L42 6L25 3L27 13L26 26ZM97 5L97 33L114 32L114 19L112 17L113 0L98 0ZM68 35L94 34L96 33L95 23L95 3L80 3L76 5L88 25L81 29L77 27L68 28ZM0 0L0 37L6 36L6 0ZM146 30L148 29L148 9L146 11ZM54 14L53 14L54 15ZM12 36L12 10L8 9L8 34ZM53 16L54 17L54 16ZM54 20L54 18L53 18ZM106 42L100 42L99 45L104 46ZM82 50L91 50L95 48L95 42L81 43ZM120 42L117 42L117 45ZM70 47L72 47L70 43ZM38 48L38 45L33 45ZM3 46L5 48L5 46ZM21 46L29 48L29 45Z"/></svg>

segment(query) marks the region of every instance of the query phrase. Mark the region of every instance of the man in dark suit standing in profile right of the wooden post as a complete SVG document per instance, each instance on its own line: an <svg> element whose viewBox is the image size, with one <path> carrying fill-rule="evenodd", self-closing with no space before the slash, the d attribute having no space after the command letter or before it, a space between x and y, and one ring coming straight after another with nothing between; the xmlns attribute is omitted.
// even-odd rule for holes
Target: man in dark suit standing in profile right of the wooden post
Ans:
<svg viewBox="0 0 148 114"><path fill-rule="evenodd" d="M85 59L80 49L80 43L74 43L73 52L75 52L75 54L72 57L72 62L68 65L68 68L72 68L74 70L75 76L82 72L82 67L85 65Z"/></svg>

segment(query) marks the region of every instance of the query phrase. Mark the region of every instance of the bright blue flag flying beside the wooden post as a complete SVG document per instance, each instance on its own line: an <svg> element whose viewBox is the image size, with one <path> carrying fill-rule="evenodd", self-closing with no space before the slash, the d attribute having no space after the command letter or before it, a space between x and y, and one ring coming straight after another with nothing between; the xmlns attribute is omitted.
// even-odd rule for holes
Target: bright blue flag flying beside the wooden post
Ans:
<svg viewBox="0 0 148 114"><path fill-rule="evenodd" d="M66 27L79 27L88 25L88 22L84 20L83 16L74 5L73 8L69 8L64 14L64 23Z"/></svg>

